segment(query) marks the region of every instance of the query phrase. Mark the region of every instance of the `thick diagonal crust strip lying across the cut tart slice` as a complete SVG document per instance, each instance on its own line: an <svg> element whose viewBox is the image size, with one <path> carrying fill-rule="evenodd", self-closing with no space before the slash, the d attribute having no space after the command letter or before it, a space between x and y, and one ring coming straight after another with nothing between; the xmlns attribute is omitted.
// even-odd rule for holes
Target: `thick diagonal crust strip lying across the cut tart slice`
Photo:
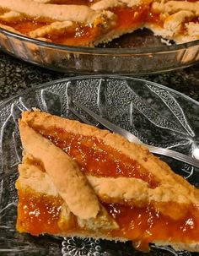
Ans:
<svg viewBox="0 0 199 256"><path fill-rule="evenodd" d="M19 121L19 130L25 152L42 161L73 214L82 219L96 217L100 211L100 203L77 164L26 123ZM56 155L56 158L52 158L52 155Z"/></svg>

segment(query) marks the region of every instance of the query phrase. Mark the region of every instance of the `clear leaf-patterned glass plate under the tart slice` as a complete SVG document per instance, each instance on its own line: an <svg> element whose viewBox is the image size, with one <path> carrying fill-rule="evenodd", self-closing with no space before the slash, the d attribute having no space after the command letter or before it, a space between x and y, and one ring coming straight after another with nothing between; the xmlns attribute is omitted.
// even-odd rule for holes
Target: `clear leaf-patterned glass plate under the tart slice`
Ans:
<svg viewBox="0 0 199 256"><path fill-rule="evenodd" d="M17 195L14 182L21 158L17 119L22 111L32 107L77 119L68 110L73 99L136 134L145 143L173 148L187 155L193 154L199 146L199 104L175 90L145 80L84 76L41 84L13 97L0 105L0 255L190 256L188 252L154 248L153 245L146 254L134 250L131 242L32 237L15 231ZM199 187L198 170L166 157L163 160Z"/></svg>

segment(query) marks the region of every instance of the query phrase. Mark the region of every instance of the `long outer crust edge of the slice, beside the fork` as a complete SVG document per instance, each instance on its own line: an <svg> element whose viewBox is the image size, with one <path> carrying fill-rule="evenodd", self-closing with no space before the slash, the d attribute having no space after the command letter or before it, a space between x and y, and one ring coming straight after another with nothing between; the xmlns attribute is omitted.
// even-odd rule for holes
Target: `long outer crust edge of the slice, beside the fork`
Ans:
<svg viewBox="0 0 199 256"><path fill-rule="evenodd" d="M83 136L89 136L89 134L92 134L92 136L103 140L103 142L110 145L110 147L120 150L123 154L128 155L128 157L132 159L136 159L140 165L155 175L156 180L160 184L162 182L170 186L176 186L177 182L179 184L179 188L176 193L181 195L185 194L185 200L188 193L189 199L187 200L193 200L194 202L196 199L198 202L199 192L182 177L175 175L168 165L163 161L160 161L158 157L150 154L148 149L143 145L129 143L119 134L113 134L107 130L100 130L89 125L79 123L78 121L51 116L46 112L23 112L22 120L25 123L28 123L32 128L40 127L45 123L45 128L55 128L58 126L69 133L81 134Z"/></svg>

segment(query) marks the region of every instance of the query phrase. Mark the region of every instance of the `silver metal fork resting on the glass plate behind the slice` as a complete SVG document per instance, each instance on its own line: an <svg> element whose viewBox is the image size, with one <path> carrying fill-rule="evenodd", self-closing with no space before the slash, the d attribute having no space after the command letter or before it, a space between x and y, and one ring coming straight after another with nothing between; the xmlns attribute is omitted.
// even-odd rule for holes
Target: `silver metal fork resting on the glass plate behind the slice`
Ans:
<svg viewBox="0 0 199 256"><path fill-rule="evenodd" d="M78 106L78 108L82 109L84 112L88 113L90 117L93 117L94 120L96 120L98 123L102 124L105 128L108 128L113 133L119 133L119 134L121 134L121 136L125 137L129 141L134 142L136 144L143 144L143 142L141 140L137 139L137 137L135 135L133 135L132 133L126 131L123 128L116 126L116 124L110 123L110 121L106 120L104 117L100 117L99 115L95 114L94 112L89 110L86 106L83 106L81 103L79 103L78 101L73 101L73 104L75 106ZM75 114L80 120L82 120L83 123L89 123L89 122L87 122L85 117L80 115L73 108L70 108L70 111L73 112L73 114ZM89 123L89 124L91 124L91 123ZM185 162L186 164L189 164L191 166L195 166L195 167L199 168L199 161L189 155L184 155L175 150L159 148L159 147L156 147L153 145L148 145L148 144L143 144L143 145L146 146L151 153L155 153L158 155L166 155L175 160L182 161L182 162Z"/></svg>

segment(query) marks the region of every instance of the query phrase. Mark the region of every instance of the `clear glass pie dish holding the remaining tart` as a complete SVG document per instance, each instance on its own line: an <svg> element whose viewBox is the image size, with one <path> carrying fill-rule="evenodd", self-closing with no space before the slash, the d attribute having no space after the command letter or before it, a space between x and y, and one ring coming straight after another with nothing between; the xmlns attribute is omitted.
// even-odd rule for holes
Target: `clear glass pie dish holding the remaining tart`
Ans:
<svg viewBox="0 0 199 256"><path fill-rule="evenodd" d="M154 74L185 68L199 60L199 40L167 46L157 44L156 37L145 30L135 32L132 39L132 48L62 46L0 29L3 52L67 74Z"/></svg>

